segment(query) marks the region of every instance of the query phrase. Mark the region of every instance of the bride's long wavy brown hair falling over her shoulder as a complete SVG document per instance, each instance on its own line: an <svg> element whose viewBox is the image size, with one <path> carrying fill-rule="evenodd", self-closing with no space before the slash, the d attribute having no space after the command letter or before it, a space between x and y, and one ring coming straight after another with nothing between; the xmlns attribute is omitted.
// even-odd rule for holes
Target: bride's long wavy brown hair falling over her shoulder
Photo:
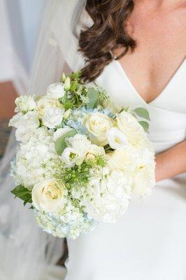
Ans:
<svg viewBox="0 0 186 280"><path fill-rule="evenodd" d="M95 80L113 59L113 50L124 48L120 59L136 42L127 34L124 23L134 8L133 0L87 0L92 27L80 32L80 52L85 56L84 81Z"/></svg>

